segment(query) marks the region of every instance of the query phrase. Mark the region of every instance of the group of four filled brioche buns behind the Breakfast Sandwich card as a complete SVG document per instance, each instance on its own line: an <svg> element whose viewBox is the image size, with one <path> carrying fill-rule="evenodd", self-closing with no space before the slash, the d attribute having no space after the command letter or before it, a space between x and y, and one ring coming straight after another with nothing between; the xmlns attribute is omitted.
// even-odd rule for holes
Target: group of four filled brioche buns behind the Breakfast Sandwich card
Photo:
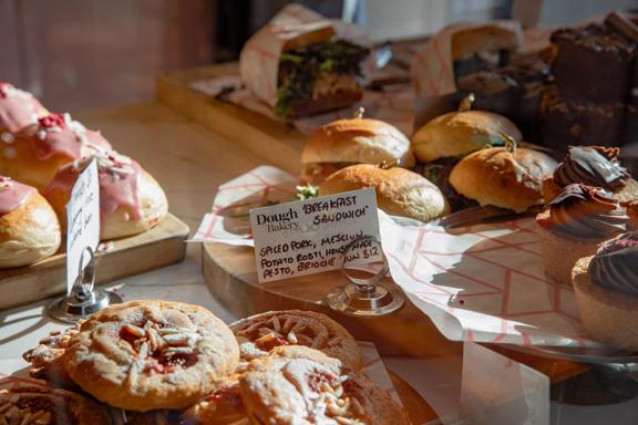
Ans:
<svg viewBox="0 0 638 425"><path fill-rule="evenodd" d="M361 114L326 124L303 148L301 183L319 195L373 187L379 208L423 222L471 206L526 212L543 205L543 178L556 162L519 147L523 136L510 120L469 103L426 123L411 142Z"/></svg>

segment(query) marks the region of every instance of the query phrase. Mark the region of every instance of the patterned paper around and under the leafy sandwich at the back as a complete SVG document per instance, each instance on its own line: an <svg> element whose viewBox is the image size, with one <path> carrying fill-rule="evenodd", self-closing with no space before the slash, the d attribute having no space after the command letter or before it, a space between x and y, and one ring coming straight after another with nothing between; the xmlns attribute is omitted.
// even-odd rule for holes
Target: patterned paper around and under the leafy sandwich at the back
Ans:
<svg viewBox="0 0 638 425"><path fill-rule="evenodd" d="M210 96L217 96L225 89L231 87L233 91L224 96L226 101L272 120L282 121L272 112L272 106L277 102L277 75L281 49L286 41L295 35L327 24L335 28L339 38L370 46L370 40L360 27L339 20L328 20L300 4L289 4L246 43L241 51L239 74L202 80L191 86ZM367 76L375 72L372 56L362 63ZM243 86L243 82L246 86ZM357 108L363 106L366 116L393 124L409 135L412 133L413 102L410 84L399 85L391 92L364 91L362 101L356 105L296 120L292 125L301 133L309 134L335 120L352 117Z"/></svg>

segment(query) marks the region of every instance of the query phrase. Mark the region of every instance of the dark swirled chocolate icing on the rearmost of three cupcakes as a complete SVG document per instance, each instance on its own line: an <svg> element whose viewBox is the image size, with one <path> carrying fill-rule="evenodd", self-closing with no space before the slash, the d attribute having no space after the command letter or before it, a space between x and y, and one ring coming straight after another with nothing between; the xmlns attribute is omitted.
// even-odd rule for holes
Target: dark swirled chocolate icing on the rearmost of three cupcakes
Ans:
<svg viewBox="0 0 638 425"><path fill-rule="evenodd" d="M565 187L572 183L614 190L625 186L629 173L618 163L619 149L601 146L570 146L554 172L554 182Z"/></svg>

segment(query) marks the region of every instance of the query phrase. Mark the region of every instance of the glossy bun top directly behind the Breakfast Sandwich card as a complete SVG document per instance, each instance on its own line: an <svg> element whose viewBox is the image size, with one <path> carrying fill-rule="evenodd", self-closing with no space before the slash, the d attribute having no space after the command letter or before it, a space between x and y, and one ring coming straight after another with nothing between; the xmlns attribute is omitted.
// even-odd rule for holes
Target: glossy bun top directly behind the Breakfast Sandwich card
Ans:
<svg viewBox="0 0 638 425"><path fill-rule="evenodd" d="M346 167L323 182L319 195L373 187L379 208L392 216L431 221L450 212L447 200L430 180L405 168L384 169L370 164Z"/></svg>

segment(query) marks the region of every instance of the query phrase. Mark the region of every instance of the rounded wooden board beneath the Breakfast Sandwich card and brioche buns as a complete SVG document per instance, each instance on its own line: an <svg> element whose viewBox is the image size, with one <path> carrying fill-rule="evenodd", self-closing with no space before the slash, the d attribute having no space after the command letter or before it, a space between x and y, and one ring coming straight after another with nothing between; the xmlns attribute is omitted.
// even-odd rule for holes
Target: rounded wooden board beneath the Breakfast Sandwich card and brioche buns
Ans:
<svg viewBox="0 0 638 425"><path fill-rule="evenodd" d="M351 318L332 311L323 298L344 282L339 271L258 283L254 249L222 243L203 245L202 267L213 294L238 317L269 310L312 310L332 317L356 339L373 341L383 355L462 355L463 344L445 339L410 301L383 318ZM390 279L384 283L394 284ZM587 371L574 362L522 354L504 346L497 351L546 374L553 383Z"/></svg>

